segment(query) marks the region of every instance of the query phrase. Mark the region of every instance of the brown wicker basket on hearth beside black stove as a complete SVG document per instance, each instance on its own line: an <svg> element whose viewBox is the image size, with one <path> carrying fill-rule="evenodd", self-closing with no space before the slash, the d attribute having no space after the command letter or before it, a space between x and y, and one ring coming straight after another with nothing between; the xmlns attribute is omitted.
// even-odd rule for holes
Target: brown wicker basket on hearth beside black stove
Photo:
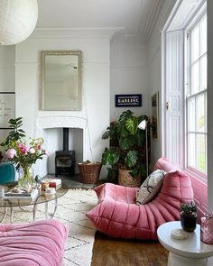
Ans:
<svg viewBox="0 0 213 266"><path fill-rule="evenodd" d="M80 182L95 184L99 178L102 167L101 162L78 163Z"/></svg>

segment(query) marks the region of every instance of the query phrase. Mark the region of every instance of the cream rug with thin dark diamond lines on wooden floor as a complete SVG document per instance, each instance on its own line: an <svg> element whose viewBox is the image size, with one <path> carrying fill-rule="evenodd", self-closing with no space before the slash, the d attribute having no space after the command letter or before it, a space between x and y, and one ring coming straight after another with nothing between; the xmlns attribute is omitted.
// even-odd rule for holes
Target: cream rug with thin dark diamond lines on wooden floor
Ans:
<svg viewBox="0 0 213 266"><path fill-rule="evenodd" d="M64 266L89 266L91 264L96 230L88 220L86 213L96 205L97 196L92 189L69 189L64 197L58 199L58 208L54 218L59 219L64 224L69 224ZM53 202L50 202L49 209L53 209L53 206ZM30 207L24 207L24 209L30 210ZM44 204L38 205L36 218L42 219L44 217ZM9 221L10 216L8 215L4 223L9 223ZM19 208L14 208L14 223L31 221L31 212L23 212Z"/></svg>

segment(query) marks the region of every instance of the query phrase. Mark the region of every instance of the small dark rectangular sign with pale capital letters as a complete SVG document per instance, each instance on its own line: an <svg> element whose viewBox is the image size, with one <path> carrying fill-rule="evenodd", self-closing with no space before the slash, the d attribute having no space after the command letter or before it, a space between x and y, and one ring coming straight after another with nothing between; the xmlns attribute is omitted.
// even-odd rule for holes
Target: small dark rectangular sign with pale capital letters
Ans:
<svg viewBox="0 0 213 266"><path fill-rule="evenodd" d="M116 107L142 106L141 94L118 94L116 95Z"/></svg>

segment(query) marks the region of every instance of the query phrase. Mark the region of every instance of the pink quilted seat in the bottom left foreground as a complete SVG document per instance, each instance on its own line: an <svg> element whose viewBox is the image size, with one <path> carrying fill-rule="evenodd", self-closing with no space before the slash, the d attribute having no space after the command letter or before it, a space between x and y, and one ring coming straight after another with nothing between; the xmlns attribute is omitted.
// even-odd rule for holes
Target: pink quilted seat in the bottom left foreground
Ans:
<svg viewBox="0 0 213 266"><path fill-rule="evenodd" d="M0 224L0 265L61 266L67 235L57 220Z"/></svg>

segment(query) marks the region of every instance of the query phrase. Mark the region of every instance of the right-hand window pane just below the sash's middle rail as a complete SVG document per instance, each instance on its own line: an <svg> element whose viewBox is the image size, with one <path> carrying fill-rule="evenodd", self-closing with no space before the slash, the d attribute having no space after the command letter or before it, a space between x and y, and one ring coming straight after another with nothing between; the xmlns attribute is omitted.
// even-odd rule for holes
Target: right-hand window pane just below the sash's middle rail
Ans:
<svg viewBox="0 0 213 266"><path fill-rule="evenodd" d="M205 112L205 98L204 94L197 97L196 102L196 131L197 132L206 132L206 112Z"/></svg>

